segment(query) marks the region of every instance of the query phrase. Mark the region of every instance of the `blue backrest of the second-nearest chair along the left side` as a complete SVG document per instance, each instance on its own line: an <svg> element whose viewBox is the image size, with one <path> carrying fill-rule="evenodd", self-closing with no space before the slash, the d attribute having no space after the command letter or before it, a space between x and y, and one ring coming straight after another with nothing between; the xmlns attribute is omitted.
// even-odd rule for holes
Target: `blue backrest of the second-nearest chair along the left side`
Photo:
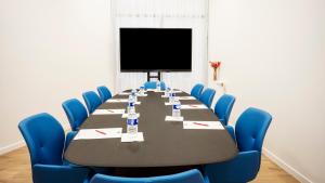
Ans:
<svg viewBox="0 0 325 183"><path fill-rule="evenodd" d="M62 107L69 120L72 130L77 131L88 117L87 109L77 99L65 101Z"/></svg>

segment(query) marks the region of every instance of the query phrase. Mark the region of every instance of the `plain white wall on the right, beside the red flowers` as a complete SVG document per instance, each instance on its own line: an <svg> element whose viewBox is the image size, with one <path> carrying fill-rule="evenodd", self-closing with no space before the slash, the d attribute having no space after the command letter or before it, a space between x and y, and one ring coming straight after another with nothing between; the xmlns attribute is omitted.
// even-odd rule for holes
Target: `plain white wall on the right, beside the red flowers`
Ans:
<svg viewBox="0 0 325 183"><path fill-rule="evenodd" d="M264 153L302 182L325 182L325 1L210 0L209 12L209 60L237 97L231 120L270 112Z"/></svg>

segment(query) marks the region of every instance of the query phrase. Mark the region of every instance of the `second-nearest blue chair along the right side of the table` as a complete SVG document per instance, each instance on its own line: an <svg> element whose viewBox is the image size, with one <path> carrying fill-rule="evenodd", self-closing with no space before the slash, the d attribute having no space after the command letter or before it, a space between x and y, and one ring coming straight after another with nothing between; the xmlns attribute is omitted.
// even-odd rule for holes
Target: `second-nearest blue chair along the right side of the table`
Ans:
<svg viewBox="0 0 325 183"><path fill-rule="evenodd" d="M229 117L232 113L235 101L235 96L223 94L214 106L214 114L224 126L227 126Z"/></svg>

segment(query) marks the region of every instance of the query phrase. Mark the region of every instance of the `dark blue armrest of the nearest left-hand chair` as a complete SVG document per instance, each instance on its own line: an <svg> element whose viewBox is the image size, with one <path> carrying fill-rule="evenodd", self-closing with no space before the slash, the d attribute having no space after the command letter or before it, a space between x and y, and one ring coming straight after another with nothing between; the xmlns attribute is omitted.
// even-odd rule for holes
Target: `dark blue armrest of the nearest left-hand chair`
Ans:
<svg viewBox="0 0 325 183"><path fill-rule="evenodd" d="M84 167L34 165L34 183L83 183L89 174Z"/></svg>

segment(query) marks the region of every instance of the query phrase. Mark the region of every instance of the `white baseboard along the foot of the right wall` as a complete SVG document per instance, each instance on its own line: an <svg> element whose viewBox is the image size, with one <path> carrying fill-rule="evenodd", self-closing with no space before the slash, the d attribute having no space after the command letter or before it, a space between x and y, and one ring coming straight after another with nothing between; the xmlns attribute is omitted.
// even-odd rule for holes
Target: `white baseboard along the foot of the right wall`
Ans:
<svg viewBox="0 0 325 183"><path fill-rule="evenodd" d="M270 158L273 162L275 162L278 167L284 169L286 172L295 177L298 181L301 183L313 183L310 179L308 179L306 175L303 175L301 172L296 170L294 167L286 164L283 159L281 159L278 156L273 154L268 148L263 148L263 154Z"/></svg>

